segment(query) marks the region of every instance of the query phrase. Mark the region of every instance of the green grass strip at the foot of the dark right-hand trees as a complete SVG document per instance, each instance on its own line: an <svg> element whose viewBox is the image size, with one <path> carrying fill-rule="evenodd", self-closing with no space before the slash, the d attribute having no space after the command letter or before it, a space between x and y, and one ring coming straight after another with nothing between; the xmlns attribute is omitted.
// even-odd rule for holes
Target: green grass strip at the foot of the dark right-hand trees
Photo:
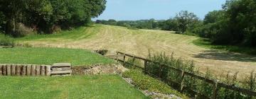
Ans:
<svg viewBox="0 0 256 99"><path fill-rule="evenodd" d="M228 52L239 52L243 54L256 55L256 47L242 47L235 45L213 45L211 44L210 40L206 38L198 38L197 40L193 41L193 44L215 50L224 50Z"/></svg>

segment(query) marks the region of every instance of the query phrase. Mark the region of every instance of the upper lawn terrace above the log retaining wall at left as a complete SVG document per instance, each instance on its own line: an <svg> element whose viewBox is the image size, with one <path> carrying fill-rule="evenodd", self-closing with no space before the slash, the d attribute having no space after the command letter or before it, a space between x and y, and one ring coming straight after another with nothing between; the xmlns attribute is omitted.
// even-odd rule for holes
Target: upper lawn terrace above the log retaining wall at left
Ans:
<svg viewBox="0 0 256 99"><path fill-rule="evenodd" d="M114 63L111 59L87 50L50 47L0 49L0 64L53 64L58 62L68 62L73 66Z"/></svg>

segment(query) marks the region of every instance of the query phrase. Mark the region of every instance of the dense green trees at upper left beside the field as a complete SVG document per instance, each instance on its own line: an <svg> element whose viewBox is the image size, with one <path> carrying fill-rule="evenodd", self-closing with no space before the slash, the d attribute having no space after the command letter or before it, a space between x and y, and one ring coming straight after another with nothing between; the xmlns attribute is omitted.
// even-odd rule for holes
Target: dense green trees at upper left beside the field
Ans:
<svg viewBox="0 0 256 99"><path fill-rule="evenodd" d="M90 23L105 10L106 0L0 0L0 30L14 37L32 28L53 33Z"/></svg>

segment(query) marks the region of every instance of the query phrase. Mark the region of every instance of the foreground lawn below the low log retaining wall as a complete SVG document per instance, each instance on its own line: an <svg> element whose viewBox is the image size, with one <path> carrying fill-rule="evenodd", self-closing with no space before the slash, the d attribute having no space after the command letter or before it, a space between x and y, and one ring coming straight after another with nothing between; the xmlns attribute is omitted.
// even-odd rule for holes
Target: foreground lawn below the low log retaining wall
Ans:
<svg viewBox="0 0 256 99"><path fill-rule="evenodd" d="M146 98L117 75L68 77L0 76L0 98Z"/></svg>

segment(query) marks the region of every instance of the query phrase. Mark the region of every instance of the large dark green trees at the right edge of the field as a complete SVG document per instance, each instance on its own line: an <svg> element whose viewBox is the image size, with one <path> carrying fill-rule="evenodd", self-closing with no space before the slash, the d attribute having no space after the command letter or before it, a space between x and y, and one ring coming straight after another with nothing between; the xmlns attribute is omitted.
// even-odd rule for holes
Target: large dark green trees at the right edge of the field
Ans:
<svg viewBox="0 0 256 99"><path fill-rule="evenodd" d="M215 44L247 45L256 47L256 1L229 0L220 11L206 15L199 32Z"/></svg>

